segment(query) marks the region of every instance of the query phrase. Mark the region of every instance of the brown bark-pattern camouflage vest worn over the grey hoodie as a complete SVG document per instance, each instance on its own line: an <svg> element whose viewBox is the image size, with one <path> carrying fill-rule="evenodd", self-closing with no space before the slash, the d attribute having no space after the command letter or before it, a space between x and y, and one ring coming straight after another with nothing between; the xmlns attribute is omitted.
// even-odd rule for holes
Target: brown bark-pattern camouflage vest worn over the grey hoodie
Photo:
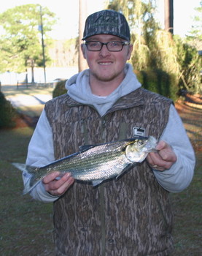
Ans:
<svg viewBox="0 0 202 256"><path fill-rule="evenodd" d="M55 159L82 145L132 138L137 130L160 138L170 105L165 97L137 89L101 117L68 95L55 98L45 106ZM146 161L96 188L75 182L54 203L56 255L168 255L173 250L168 194Z"/></svg>

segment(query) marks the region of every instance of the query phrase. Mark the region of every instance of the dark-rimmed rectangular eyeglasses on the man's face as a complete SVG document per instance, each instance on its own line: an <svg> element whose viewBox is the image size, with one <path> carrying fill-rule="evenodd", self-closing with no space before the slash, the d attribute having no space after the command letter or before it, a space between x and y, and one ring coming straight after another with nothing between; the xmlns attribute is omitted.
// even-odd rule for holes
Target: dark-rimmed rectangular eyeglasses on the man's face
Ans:
<svg viewBox="0 0 202 256"><path fill-rule="evenodd" d="M120 42L120 41L112 41L112 42L99 42L99 41L85 41L85 45L90 51L99 51L103 48L103 45L106 45L107 50L109 51L121 51L123 46L130 45L130 42Z"/></svg>

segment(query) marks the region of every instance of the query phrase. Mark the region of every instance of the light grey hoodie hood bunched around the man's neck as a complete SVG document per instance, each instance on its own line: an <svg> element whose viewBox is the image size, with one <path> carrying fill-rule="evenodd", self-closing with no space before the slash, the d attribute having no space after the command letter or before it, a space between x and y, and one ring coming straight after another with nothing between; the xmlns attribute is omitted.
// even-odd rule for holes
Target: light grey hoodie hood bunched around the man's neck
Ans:
<svg viewBox="0 0 202 256"><path fill-rule="evenodd" d="M141 87L141 83L139 83L136 75L133 73L131 64L125 64L125 78L120 83L120 86L106 97L98 97L92 94L89 84L89 69L73 75L66 81L65 87L68 90L67 94L72 99L85 105L93 105L98 113L104 116L106 111L112 108L112 105L114 105L117 99L135 91Z"/></svg>

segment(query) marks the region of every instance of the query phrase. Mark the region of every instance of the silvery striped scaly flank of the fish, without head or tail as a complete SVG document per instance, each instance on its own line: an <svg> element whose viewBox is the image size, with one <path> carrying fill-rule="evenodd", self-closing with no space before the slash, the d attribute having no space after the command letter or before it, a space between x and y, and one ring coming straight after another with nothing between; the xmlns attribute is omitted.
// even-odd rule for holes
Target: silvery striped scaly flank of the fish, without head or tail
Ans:
<svg viewBox="0 0 202 256"><path fill-rule="evenodd" d="M61 172L70 172L72 177L83 180L110 178L114 175L114 170L120 172L128 162L131 162L128 161L125 152L122 150L125 144L128 145L128 142L124 145L120 143L116 148L112 144L97 146L96 150L90 148L88 151L74 157L63 159L60 165L55 163L52 168L47 167L47 170L49 173L56 169ZM44 171L46 171L46 168L44 168Z"/></svg>

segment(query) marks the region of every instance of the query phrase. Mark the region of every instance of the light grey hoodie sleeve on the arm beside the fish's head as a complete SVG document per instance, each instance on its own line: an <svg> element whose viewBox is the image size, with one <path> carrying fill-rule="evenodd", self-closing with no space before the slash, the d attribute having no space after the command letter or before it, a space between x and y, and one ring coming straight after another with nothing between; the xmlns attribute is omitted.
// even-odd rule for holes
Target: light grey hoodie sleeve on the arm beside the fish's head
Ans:
<svg viewBox="0 0 202 256"><path fill-rule="evenodd" d="M159 184L169 192L181 192L193 179L195 154L187 137L182 120L171 105L168 124L160 137L174 150L177 160L170 169L160 172L153 170Z"/></svg>

